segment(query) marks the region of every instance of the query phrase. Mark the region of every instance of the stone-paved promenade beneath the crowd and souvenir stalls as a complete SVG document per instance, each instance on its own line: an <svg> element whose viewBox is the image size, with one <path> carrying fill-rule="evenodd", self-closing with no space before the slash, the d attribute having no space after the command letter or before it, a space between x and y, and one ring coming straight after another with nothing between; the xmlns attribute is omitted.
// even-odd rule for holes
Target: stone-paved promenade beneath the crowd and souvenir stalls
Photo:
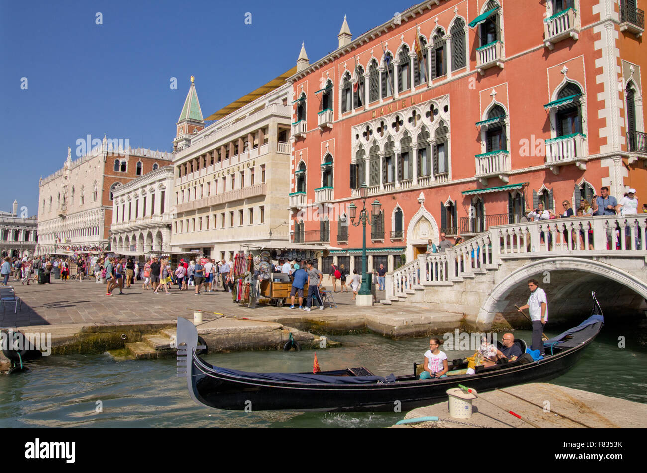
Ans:
<svg viewBox="0 0 647 473"><path fill-rule="evenodd" d="M242 308L232 302L231 295L222 291L204 293L200 296L190 291L179 292L177 286L171 295L160 293L154 295L151 290L142 289L142 282L124 289L125 295L113 291L111 297L105 296L105 284L94 280L61 282L52 278L51 284L32 284L21 286L19 281L10 280L10 286L16 295L23 300L23 310L14 313L12 306L0 312L0 328L50 324L114 324L115 322L151 322L175 321L178 316L192 318L193 310L225 312L251 317L285 315L286 313L305 312L289 310L287 307L276 308L261 304L256 309ZM378 298L379 298L378 293ZM381 293L382 295L384 293ZM359 315L380 311L388 314L421 313L422 308L388 307L378 304L371 307L356 307L352 293L337 293L334 298L336 309L328 309L341 315ZM326 311L323 311L325 313Z"/></svg>

